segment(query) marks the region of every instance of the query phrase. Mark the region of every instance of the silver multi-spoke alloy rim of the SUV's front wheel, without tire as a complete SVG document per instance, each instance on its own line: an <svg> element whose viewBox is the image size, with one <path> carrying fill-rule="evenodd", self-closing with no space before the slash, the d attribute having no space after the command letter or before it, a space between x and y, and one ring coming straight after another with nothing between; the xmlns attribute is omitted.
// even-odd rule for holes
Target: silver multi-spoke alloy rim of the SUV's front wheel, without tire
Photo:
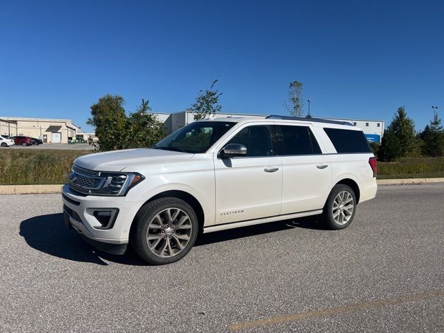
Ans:
<svg viewBox="0 0 444 333"><path fill-rule="evenodd" d="M173 257L187 246L192 231L187 213L178 208L167 208L151 220L146 230L146 242L157 257Z"/></svg>

